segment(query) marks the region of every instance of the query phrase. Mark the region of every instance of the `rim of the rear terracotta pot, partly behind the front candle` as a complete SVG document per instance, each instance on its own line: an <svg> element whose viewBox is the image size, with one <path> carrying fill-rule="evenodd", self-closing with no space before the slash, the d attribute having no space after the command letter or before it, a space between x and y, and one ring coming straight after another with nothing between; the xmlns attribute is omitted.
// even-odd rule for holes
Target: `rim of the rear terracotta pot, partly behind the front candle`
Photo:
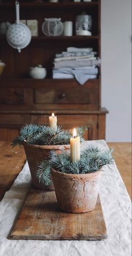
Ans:
<svg viewBox="0 0 132 256"><path fill-rule="evenodd" d="M65 145L35 145L35 144L30 144L23 142L22 146L24 147L35 147L35 148L43 148L43 149L48 149L48 150L54 150L54 149L63 149L63 148L70 148L70 144L65 144Z"/></svg>

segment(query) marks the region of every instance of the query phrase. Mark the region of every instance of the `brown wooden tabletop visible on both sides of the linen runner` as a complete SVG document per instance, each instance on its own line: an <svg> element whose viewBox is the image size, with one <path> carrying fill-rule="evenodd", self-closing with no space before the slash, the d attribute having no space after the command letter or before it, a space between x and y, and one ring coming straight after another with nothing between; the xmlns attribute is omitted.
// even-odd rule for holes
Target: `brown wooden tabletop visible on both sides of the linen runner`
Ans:
<svg viewBox="0 0 132 256"><path fill-rule="evenodd" d="M114 148L117 168L131 197L131 143L107 143ZM0 200L10 189L13 181L25 164L23 148L11 147L11 142L0 141Z"/></svg>

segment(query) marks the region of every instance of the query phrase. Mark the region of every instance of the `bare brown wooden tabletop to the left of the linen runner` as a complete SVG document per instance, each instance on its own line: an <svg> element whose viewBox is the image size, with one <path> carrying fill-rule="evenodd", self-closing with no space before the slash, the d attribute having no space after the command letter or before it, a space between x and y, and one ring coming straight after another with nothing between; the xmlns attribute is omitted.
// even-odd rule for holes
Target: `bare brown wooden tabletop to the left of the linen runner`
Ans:
<svg viewBox="0 0 132 256"><path fill-rule="evenodd" d="M11 142L0 141L0 201L22 170L25 161L23 148L12 148Z"/></svg>

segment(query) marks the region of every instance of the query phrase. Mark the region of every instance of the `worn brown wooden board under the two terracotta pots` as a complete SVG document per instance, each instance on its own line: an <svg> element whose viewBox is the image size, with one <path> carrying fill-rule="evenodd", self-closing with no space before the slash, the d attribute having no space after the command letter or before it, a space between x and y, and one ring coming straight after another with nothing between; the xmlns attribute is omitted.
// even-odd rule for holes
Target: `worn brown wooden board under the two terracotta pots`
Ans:
<svg viewBox="0 0 132 256"><path fill-rule="evenodd" d="M54 191L31 187L9 239L107 239L100 197L91 212L65 213L59 210Z"/></svg>

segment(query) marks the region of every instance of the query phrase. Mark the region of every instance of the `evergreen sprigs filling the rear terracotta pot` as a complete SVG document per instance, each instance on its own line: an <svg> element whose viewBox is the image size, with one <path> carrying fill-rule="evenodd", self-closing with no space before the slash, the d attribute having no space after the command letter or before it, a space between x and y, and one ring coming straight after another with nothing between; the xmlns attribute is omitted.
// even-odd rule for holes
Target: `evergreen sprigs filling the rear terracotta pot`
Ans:
<svg viewBox="0 0 132 256"><path fill-rule="evenodd" d="M81 142L84 142L82 137L84 128L77 127L77 131ZM69 131L64 131L60 126L53 129L46 125L26 124L21 128L18 137L13 139L11 145L21 147L25 141L34 145L67 145L70 143L71 136Z"/></svg>

